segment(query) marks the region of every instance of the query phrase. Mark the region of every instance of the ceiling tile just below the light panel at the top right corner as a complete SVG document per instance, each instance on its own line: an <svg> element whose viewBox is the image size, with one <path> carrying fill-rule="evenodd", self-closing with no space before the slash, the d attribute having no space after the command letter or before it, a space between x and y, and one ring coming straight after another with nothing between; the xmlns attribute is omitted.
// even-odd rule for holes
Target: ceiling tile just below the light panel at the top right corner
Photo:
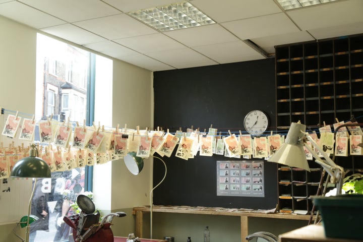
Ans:
<svg viewBox="0 0 363 242"><path fill-rule="evenodd" d="M348 0L301 8L286 13L302 30L363 22L363 1Z"/></svg>

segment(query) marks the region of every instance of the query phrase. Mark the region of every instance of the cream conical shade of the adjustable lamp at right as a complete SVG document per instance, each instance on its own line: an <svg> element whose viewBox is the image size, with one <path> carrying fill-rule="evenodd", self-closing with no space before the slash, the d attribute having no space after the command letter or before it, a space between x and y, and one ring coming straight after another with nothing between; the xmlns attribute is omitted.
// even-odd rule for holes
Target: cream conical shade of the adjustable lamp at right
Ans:
<svg viewBox="0 0 363 242"><path fill-rule="evenodd" d="M305 125L291 123L285 143L268 161L310 171L304 150L304 142L301 139L305 135L303 133L305 130Z"/></svg>

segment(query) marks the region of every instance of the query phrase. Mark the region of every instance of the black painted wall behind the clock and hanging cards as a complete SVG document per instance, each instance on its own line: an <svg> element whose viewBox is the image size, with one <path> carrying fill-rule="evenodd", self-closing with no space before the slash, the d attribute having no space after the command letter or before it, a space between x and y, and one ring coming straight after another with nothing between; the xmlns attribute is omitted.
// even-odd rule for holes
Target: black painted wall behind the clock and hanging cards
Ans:
<svg viewBox="0 0 363 242"><path fill-rule="evenodd" d="M154 72L154 126L175 133L193 126L204 131L213 125L222 134L245 131L245 115L255 109L268 114L276 127L274 58L199 68ZM266 132L269 133L269 132ZM162 159L167 165L163 183L154 190L155 205L269 209L277 204L277 166L265 161L265 197L216 196L216 161L238 160L222 155L184 160ZM164 175L154 159L154 186Z"/></svg>

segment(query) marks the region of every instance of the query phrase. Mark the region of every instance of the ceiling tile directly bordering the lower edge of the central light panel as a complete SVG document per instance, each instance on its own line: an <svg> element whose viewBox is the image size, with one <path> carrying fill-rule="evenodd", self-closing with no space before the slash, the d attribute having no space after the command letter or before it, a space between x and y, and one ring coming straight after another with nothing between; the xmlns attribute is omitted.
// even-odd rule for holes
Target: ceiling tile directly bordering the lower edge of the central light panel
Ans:
<svg viewBox="0 0 363 242"><path fill-rule="evenodd" d="M165 34L191 47L238 40L237 37L218 24L168 31ZM191 36L193 37L191 38Z"/></svg>

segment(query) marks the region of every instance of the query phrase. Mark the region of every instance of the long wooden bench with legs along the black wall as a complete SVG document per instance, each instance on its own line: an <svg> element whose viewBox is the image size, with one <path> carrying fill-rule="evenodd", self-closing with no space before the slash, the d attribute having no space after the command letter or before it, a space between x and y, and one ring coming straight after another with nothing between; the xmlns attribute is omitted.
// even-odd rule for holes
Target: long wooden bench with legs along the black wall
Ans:
<svg viewBox="0 0 363 242"><path fill-rule="evenodd" d="M258 213L253 211L230 211L231 209L221 208L206 208L206 207L188 207L188 206L153 206L152 211L158 213L189 213L189 214L209 214L209 215L226 215L226 216L239 216L241 240L246 241L248 233L248 220L250 217L262 218L282 218L282 219L296 219L296 220L309 220L310 215L298 214L281 214L281 213ZM143 214L150 212L150 206L134 207L133 214L136 215L136 228L135 236L143 236Z"/></svg>

